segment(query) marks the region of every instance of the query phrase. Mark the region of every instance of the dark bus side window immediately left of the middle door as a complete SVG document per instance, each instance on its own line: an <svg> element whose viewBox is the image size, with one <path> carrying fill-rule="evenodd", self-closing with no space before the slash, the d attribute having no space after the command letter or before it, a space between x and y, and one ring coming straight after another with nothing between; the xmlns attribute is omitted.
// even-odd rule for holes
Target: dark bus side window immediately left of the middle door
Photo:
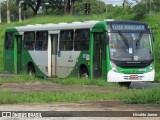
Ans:
<svg viewBox="0 0 160 120"><path fill-rule="evenodd" d="M47 31L38 31L36 32L36 50L47 50L48 45L48 32Z"/></svg>

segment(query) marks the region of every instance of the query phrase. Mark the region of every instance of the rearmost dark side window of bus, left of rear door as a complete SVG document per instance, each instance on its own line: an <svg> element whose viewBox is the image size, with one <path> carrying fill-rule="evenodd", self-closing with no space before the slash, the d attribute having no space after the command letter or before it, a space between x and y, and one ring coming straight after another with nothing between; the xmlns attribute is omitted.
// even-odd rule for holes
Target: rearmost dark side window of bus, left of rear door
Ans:
<svg viewBox="0 0 160 120"><path fill-rule="evenodd" d="M6 50L13 50L13 42L14 36L12 32L6 33L6 39L5 39L5 49Z"/></svg>

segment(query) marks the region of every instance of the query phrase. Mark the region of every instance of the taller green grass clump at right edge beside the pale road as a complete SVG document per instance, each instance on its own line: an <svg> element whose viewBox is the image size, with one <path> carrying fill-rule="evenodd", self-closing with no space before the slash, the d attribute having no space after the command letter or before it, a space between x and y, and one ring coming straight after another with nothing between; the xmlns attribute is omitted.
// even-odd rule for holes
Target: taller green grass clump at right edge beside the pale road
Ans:
<svg viewBox="0 0 160 120"><path fill-rule="evenodd" d="M127 100L126 103L130 104L160 104L160 89L144 89L134 91Z"/></svg>

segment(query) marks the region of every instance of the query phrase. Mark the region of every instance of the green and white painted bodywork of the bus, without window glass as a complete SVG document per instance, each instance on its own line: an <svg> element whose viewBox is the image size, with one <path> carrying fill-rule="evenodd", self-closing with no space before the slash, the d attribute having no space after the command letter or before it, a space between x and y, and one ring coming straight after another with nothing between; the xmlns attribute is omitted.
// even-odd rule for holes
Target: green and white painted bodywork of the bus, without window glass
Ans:
<svg viewBox="0 0 160 120"><path fill-rule="evenodd" d="M110 24L111 23L111 24ZM35 67L37 76L44 77L77 77L80 74L81 68L86 68L88 70L89 78L102 78L107 80L108 82L130 82L130 81L153 81L155 76L154 64L153 69L152 63L155 62L153 59L152 63L145 68L132 68L132 67L120 67L118 65L115 66L117 72L113 70L113 66L111 62L110 54L110 45L106 41L106 36L110 36L110 29L112 26L113 32L119 33L119 31L125 30L128 32L128 29L143 29L141 26L139 28L133 27L134 24L138 25L146 25L143 22L135 22L135 21L86 21L86 22L75 22L75 23L60 23L60 24L46 24L46 25L27 25L20 27L9 27L6 32L13 32L16 35L22 36L22 46L24 40L24 32L26 31L47 31L48 32L48 49L45 51L37 51L37 50L23 50L21 53L21 61L22 61L22 71L28 72L28 64L32 63ZM120 26L119 26L120 24ZM131 24L132 26L125 26L125 24ZM147 26L147 25L146 25ZM147 26L148 27L148 26ZM89 49L81 50L81 51L65 51L60 50L60 35L61 31L64 30L73 30L74 34L76 29L90 29L90 40L89 40ZM149 29L149 28L148 28ZM146 31L148 30L146 29ZM145 31L145 32L146 32ZM150 34L150 33L148 33ZM57 35L56 38L56 46L57 53L52 54L51 49L53 48L53 39L52 36ZM95 37L99 35L99 37ZM75 36L74 36L75 37ZM74 38L73 37L73 38ZM75 39L75 38L74 38ZM74 44L73 39L73 44ZM109 38L108 41L111 39ZM36 40L35 40L36 41ZM126 42L124 40L124 42ZM14 44L17 44L14 42ZM154 45L152 44L152 49L154 50ZM74 44L75 45L75 44ZM74 46L73 45L73 46ZM16 47L16 45L14 45ZM17 48L13 50L4 50L4 69L5 71L15 73L15 70L18 68L18 60L16 52L14 52ZM153 51L151 50L151 51ZM97 60L97 61L96 61ZM99 62L98 62L99 61ZM53 64L54 62L54 64ZM122 61L123 62L123 61ZM55 65L56 64L56 65ZM55 67L53 68L53 65ZM55 70L55 71L54 71ZM53 74L54 71L54 74ZM136 78L137 77L137 78Z"/></svg>

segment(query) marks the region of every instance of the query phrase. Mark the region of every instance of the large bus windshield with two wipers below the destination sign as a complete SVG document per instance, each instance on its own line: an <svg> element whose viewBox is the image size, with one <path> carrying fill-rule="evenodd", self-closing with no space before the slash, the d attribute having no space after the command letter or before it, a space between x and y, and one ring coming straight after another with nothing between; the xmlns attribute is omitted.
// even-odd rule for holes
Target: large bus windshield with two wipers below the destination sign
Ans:
<svg viewBox="0 0 160 120"><path fill-rule="evenodd" d="M153 60L151 35L143 32L110 33L110 57L116 61Z"/></svg>

